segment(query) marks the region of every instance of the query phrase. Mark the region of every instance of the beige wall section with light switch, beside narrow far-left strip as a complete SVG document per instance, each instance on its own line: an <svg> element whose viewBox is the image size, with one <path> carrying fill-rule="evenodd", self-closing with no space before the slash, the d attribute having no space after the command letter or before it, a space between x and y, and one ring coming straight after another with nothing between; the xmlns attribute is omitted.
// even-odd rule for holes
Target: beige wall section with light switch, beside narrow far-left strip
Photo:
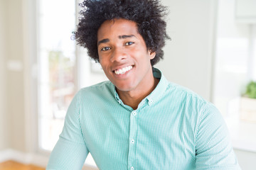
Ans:
<svg viewBox="0 0 256 170"><path fill-rule="evenodd" d="M25 151L22 0L6 1L6 118L9 146Z"/></svg>

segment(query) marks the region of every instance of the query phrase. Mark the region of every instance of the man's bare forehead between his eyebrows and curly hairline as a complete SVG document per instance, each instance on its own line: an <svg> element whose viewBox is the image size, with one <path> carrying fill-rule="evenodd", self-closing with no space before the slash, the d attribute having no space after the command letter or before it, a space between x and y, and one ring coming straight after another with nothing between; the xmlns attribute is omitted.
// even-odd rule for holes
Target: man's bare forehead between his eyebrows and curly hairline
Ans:
<svg viewBox="0 0 256 170"><path fill-rule="evenodd" d="M122 35L137 35L137 23L126 19L107 20L97 31L97 40L109 38L111 36L119 37Z"/></svg>

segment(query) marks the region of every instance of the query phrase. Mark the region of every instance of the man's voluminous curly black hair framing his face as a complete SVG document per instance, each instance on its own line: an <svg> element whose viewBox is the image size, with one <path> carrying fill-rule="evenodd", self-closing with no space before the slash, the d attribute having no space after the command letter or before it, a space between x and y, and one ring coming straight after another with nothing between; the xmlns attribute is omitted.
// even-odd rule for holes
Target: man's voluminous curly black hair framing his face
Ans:
<svg viewBox="0 0 256 170"><path fill-rule="evenodd" d="M99 61L97 53L97 30L102 23L114 18L124 18L137 23L139 34L146 42L146 47L156 56L151 60L151 66L163 59L162 47L166 34L167 14L166 6L158 0L84 0L80 6L78 29L75 40L82 47L87 48L87 53L95 62Z"/></svg>

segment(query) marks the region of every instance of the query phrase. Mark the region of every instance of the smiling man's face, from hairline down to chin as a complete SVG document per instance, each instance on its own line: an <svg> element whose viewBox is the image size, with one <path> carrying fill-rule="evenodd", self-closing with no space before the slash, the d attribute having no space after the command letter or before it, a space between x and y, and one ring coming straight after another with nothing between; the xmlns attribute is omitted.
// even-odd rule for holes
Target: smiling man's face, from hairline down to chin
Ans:
<svg viewBox="0 0 256 170"><path fill-rule="evenodd" d="M97 44L102 69L117 90L142 90L154 81L150 60L155 52L147 50L134 21L105 21L97 32Z"/></svg>

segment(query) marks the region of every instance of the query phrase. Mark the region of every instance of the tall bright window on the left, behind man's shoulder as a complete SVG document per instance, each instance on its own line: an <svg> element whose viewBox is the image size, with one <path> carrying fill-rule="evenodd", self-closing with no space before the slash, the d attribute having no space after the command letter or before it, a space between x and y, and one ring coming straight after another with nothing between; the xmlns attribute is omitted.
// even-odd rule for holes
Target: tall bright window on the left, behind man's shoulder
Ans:
<svg viewBox="0 0 256 170"><path fill-rule="evenodd" d="M38 147L53 149L78 89L107 78L71 40L78 1L38 0Z"/></svg>

